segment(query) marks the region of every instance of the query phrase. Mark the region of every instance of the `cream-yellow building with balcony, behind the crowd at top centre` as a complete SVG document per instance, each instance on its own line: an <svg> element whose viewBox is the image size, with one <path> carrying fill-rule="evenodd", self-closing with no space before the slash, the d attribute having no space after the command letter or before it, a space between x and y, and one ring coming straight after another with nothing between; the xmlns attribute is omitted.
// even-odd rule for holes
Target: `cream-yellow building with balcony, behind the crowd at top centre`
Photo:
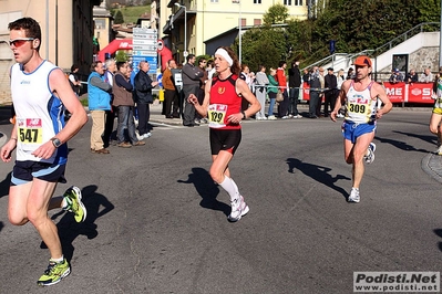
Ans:
<svg viewBox="0 0 442 294"><path fill-rule="evenodd" d="M311 2L312 0L171 0L167 3L171 14L161 17L168 18L162 29L163 40L175 53L177 61L183 61L184 49L195 55L213 54L214 52L207 51L208 40L216 41L232 31L237 36L241 28L261 25L263 15L271 6L281 3L288 8L289 18L304 20L308 17ZM232 33L229 36L232 39Z"/></svg>

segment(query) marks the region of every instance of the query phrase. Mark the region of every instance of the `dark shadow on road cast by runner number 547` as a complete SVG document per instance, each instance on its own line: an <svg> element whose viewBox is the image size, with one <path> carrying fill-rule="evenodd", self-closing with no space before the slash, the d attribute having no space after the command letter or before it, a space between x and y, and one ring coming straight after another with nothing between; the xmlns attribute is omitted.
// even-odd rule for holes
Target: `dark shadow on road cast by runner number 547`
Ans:
<svg viewBox="0 0 442 294"><path fill-rule="evenodd" d="M83 203L86 208L88 214L84 222L76 222L73 213L61 210L51 217L56 220L58 217L64 214L56 223L59 237L63 250L63 255L68 261L72 260L75 248L73 241L79 235L85 235L88 239L94 239L99 235L95 220L103 217L114 209L114 206L101 193L96 192L96 186L91 185L82 189ZM40 248L45 249L47 245L41 242Z"/></svg>

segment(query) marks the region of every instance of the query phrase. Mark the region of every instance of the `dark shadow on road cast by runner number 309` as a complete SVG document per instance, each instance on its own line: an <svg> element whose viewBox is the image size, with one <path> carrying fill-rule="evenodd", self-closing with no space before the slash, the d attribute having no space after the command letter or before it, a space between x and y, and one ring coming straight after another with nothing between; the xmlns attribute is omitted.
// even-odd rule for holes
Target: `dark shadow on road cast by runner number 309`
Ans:
<svg viewBox="0 0 442 294"><path fill-rule="evenodd" d="M342 175L331 177L331 175L329 174L331 171L331 168L302 162L297 158L288 158L287 164L289 168L288 172L295 174L295 170L297 169L307 177L310 177L313 180L319 181L327 187L330 187L331 189L340 192L346 199L348 198L348 192L341 187L336 186L335 183L338 180L351 180L350 178Z"/></svg>

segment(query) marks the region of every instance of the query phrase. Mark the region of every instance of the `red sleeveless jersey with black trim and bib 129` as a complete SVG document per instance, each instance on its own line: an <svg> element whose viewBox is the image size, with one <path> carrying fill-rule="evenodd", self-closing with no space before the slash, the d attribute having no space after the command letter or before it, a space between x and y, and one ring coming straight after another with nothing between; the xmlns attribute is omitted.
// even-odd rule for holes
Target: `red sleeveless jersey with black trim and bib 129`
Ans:
<svg viewBox="0 0 442 294"><path fill-rule="evenodd" d="M236 93L237 75L232 74L226 80L212 78L210 105L208 106L208 126L218 129L240 129L240 124L227 123L232 114L240 113L241 97Z"/></svg>

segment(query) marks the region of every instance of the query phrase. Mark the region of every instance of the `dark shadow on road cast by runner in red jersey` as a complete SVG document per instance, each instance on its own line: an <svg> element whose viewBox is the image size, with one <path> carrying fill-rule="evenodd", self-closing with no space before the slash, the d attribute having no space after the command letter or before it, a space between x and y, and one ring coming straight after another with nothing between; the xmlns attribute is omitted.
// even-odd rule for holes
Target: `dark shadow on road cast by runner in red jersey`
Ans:
<svg viewBox="0 0 442 294"><path fill-rule="evenodd" d="M219 202L216 197L219 193L218 186L214 182L210 175L204 168L193 168L186 181L178 180L181 183L193 183L202 198L199 206L207 209L223 211L224 214L230 214L230 206Z"/></svg>

